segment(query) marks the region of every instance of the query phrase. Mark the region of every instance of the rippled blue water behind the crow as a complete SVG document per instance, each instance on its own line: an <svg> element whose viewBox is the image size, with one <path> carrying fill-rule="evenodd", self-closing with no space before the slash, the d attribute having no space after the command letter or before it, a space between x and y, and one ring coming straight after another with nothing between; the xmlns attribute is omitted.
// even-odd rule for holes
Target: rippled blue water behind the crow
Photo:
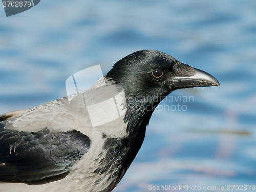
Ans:
<svg viewBox="0 0 256 192"><path fill-rule="evenodd" d="M72 74L96 64L105 74L142 49L205 70L221 87L178 90L172 97L193 100L163 101L114 191L256 184L255 0L42 0L11 17L0 7L0 113L65 97ZM174 110L178 104L186 110Z"/></svg>

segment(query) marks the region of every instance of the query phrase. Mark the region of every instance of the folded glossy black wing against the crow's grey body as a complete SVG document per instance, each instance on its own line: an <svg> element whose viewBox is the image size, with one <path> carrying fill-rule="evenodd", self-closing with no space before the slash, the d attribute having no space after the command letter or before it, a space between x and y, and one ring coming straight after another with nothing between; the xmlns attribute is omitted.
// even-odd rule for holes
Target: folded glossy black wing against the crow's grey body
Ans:
<svg viewBox="0 0 256 192"><path fill-rule="evenodd" d="M17 131L0 122L0 181L38 181L67 173L89 148L90 138L77 130Z"/></svg>

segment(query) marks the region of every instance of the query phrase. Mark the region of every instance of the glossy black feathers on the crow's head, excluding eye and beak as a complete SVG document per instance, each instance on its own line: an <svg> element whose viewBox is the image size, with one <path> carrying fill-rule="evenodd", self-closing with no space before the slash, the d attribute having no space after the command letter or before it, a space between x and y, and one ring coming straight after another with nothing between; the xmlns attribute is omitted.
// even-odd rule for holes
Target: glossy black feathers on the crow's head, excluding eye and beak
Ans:
<svg viewBox="0 0 256 192"><path fill-rule="evenodd" d="M160 70L163 76L155 78L152 72ZM155 50L141 50L115 63L106 78L120 84L127 98L155 99L175 90L170 80L177 75L193 75L194 68L180 63L174 57Z"/></svg>

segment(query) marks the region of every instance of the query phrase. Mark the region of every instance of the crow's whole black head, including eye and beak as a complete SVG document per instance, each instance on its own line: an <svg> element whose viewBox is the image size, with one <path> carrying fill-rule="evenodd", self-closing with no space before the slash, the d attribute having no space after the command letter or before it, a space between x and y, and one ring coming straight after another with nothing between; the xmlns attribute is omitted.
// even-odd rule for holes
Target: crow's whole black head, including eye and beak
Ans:
<svg viewBox="0 0 256 192"><path fill-rule="evenodd" d="M220 86L205 71L155 50L141 50L122 58L106 78L123 87L126 99L156 104L176 89Z"/></svg>

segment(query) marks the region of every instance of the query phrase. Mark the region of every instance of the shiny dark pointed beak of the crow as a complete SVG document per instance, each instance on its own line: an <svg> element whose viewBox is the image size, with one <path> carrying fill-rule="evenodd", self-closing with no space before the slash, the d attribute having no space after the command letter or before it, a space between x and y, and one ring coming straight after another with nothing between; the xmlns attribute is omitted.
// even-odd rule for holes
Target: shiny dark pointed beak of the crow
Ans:
<svg viewBox="0 0 256 192"><path fill-rule="evenodd" d="M194 73L191 76L174 77L173 86L176 89L180 89L188 87L220 86L220 83L215 79L215 77L205 71L194 68Z"/></svg>

